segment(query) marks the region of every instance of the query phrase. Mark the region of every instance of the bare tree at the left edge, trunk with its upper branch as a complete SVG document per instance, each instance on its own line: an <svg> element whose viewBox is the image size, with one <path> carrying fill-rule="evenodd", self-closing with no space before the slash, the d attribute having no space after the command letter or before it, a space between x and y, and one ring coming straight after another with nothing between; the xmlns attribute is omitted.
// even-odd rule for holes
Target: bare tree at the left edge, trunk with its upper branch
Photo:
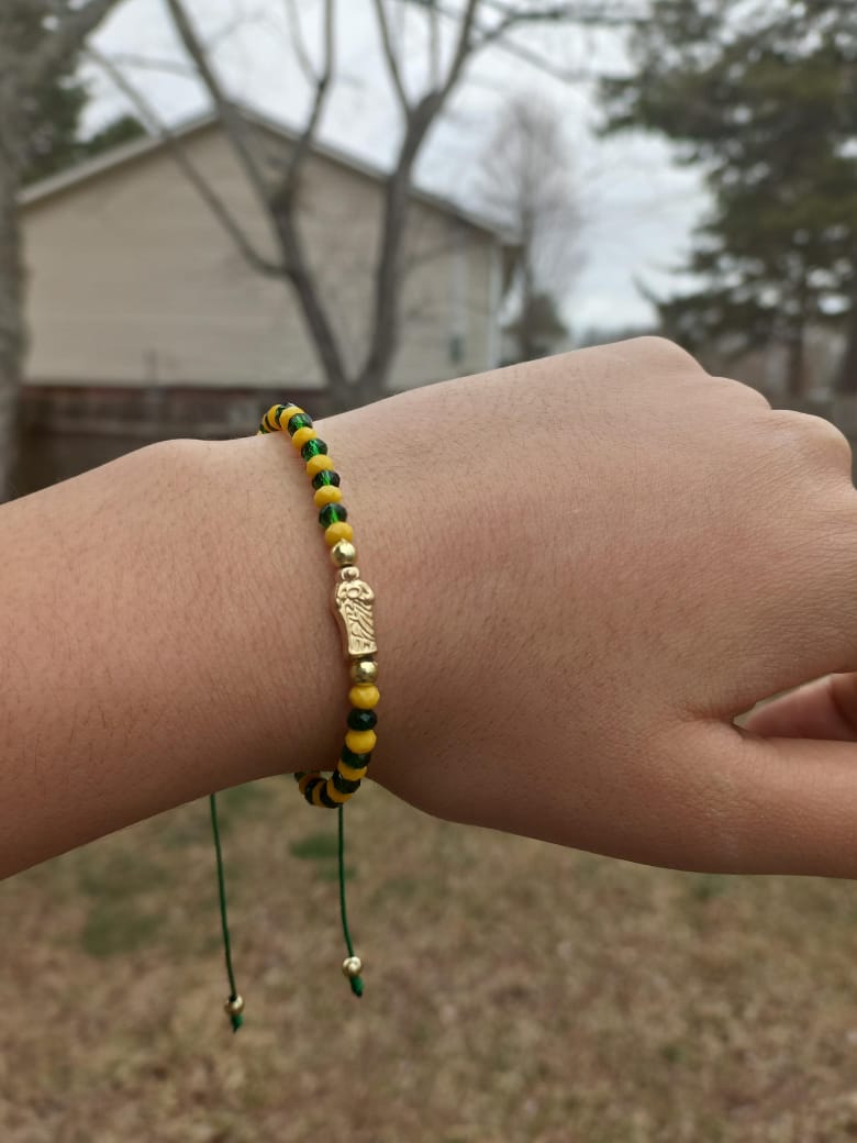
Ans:
<svg viewBox="0 0 857 1143"><path fill-rule="evenodd" d="M26 344L18 193L38 91L121 0L0 0L0 503L17 458ZM35 29L37 34L33 34Z"/></svg>

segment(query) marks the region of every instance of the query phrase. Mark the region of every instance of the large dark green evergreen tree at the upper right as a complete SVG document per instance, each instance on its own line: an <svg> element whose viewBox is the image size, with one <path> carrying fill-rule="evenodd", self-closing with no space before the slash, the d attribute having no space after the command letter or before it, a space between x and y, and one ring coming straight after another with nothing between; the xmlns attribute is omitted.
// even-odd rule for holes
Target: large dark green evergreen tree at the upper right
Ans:
<svg viewBox="0 0 857 1143"><path fill-rule="evenodd" d="M796 395L808 327L840 326L857 390L854 6L654 0L631 53L634 74L604 85L608 130L674 141L713 200L681 267L699 288L660 299L666 330L692 350L779 344Z"/></svg>

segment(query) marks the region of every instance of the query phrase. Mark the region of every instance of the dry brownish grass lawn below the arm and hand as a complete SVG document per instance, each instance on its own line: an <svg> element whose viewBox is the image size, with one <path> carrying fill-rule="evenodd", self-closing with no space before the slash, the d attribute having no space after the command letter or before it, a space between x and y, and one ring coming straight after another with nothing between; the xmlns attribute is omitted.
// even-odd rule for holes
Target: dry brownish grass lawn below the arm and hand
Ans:
<svg viewBox="0 0 857 1143"><path fill-rule="evenodd" d="M0 885L5 1143L857 1138L857 888L635 866L435 822L368 785L206 801Z"/></svg>

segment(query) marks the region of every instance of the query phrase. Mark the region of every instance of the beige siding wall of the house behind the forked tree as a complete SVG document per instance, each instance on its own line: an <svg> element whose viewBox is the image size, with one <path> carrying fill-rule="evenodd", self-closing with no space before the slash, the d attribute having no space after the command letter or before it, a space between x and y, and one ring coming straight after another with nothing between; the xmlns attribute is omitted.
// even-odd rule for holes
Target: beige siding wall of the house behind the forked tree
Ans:
<svg viewBox="0 0 857 1143"><path fill-rule="evenodd" d="M185 145L273 257L264 216L219 130L200 130ZM366 351L381 205L377 181L311 159L301 202L306 247L353 363ZM162 151L25 207L24 237L31 383L322 385L294 295L246 265ZM484 369L494 343L495 240L415 203L408 249L417 261L403 288L391 387ZM462 273L463 306L454 289ZM450 335L459 326L464 357L454 362Z"/></svg>

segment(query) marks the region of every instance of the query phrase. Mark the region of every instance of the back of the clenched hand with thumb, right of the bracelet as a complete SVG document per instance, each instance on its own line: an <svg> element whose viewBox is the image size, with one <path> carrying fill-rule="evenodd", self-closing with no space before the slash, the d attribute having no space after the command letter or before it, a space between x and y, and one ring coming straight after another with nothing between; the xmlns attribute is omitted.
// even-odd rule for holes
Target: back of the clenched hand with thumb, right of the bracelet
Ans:
<svg viewBox="0 0 857 1143"><path fill-rule="evenodd" d="M320 432L378 599L374 778L633 861L857 876L857 676L734 724L857 671L836 429L640 338Z"/></svg>

